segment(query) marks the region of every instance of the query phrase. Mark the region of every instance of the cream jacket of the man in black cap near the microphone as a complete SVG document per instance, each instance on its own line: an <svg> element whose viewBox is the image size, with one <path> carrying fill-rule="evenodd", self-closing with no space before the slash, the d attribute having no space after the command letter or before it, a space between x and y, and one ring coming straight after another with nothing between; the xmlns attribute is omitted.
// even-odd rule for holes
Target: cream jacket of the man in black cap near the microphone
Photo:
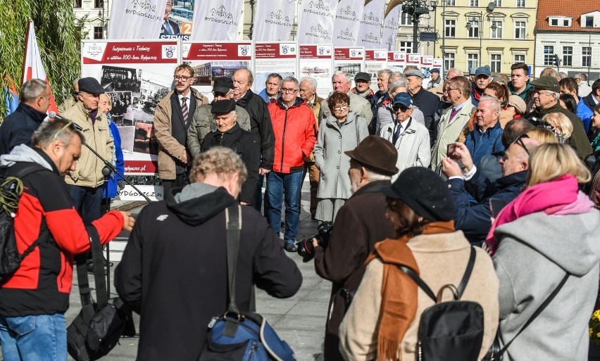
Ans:
<svg viewBox="0 0 600 361"><path fill-rule="evenodd" d="M75 106L68 108L63 113L63 117L73 120L75 124L82 127L82 133L85 137L85 143L98 152L105 160L109 162L113 158L114 142L111 136L111 131L108 129L108 120L106 115L98 110L96 122L92 125L92 117L90 117L87 109L83 107L83 103L78 101ZM102 175L104 162L100 160L94 153L89 151L86 146L81 147L81 157L77 161L75 172L65 176L67 184L75 186L89 186L96 188L104 184L104 176Z"/></svg>

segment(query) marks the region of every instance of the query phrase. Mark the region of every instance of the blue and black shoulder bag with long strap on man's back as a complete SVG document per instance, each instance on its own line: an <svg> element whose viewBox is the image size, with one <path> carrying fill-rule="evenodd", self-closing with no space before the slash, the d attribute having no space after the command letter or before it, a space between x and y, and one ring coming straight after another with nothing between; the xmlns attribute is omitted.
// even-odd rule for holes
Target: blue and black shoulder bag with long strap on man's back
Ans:
<svg viewBox="0 0 600 361"><path fill-rule="evenodd" d="M230 213L231 218L230 218ZM295 361L294 351L282 341L265 318L239 312L235 304L235 268L242 229L239 204L225 209L227 222L227 289L229 306L225 315L213 317L199 361Z"/></svg>

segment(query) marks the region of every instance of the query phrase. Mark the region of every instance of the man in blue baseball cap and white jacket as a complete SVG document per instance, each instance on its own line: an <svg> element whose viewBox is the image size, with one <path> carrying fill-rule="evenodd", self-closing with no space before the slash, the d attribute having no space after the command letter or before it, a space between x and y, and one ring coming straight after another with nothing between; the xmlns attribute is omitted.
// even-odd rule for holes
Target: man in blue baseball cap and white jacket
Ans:
<svg viewBox="0 0 600 361"><path fill-rule="evenodd" d="M408 167L429 167L431 160L429 131L425 125L415 122L413 114L413 100L408 93L398 93L394 96L393 122L382 128L381 137L387 139L398 151L396 167L398 173Z"/></svg>

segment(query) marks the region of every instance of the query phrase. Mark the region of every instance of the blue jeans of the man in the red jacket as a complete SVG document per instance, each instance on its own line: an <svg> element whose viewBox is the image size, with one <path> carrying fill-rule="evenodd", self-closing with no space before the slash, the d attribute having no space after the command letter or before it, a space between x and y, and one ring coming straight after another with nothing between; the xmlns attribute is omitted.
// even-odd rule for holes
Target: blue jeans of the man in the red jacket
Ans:
<svg viewBox="0 0 600 361"><path fill-rule="evenodd" d="M268 198L267 220L279 236L281 228L281 203L285 198L285 234L283 239L286 243L294 243L298 235L298 224L300 222L300 191L302 189L303 172L290 174L268 172L267 191L265 200ZM265 203L267 203L265 201Z"/></svg>

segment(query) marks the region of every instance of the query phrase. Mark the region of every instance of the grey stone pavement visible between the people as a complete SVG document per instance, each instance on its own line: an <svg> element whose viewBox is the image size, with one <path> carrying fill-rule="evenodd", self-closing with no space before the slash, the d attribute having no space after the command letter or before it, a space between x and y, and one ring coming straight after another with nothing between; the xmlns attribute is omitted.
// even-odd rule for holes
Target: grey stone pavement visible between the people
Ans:
<svg viewBox="0 0 600 361"><path fill-rule="evenodd" d="M300 217L300 229L297 239L303 239L316 233L317 222L311 220L308 213L308 178L302 188L302 213ZM115 202L115 206L124 205L123 202ZM139 213L142 207L131 210L134 215ZM283 213L282 213L283 216ZM121 234L116 242L126 241L125 232ZM115 242L113 241L113 242ZM113 244L113 243L111 243ZM113 248L116 248L117 243ZM330 282L315 274L313 262L304 263L296 253L287 253L298 265L303 282L301 289L292 298L278 299L268 296L261 290L256 290L256 311L266 317L279 336L289 343L296 353L298 361L323 360L323 338L325 335L325 319L327 317L327 305L330 298ZM115 266L118 262L115 262ZM111 283L113 283L111 269ZM93 284L93 275L89 275ZM77 289L77 277L73 279L73 290L70 296L70 308L66 313L67 324L77 316L80 311L80 296ZM117 296L111 285L111 296ZM139 332L139 316L134 314L136 330ZM111 353L101 360L120 361L135 360L137 355L138 338L121 338ZM0 357L1 360L1 357ZM73 360L69 357L69 360Z"/></svg>

